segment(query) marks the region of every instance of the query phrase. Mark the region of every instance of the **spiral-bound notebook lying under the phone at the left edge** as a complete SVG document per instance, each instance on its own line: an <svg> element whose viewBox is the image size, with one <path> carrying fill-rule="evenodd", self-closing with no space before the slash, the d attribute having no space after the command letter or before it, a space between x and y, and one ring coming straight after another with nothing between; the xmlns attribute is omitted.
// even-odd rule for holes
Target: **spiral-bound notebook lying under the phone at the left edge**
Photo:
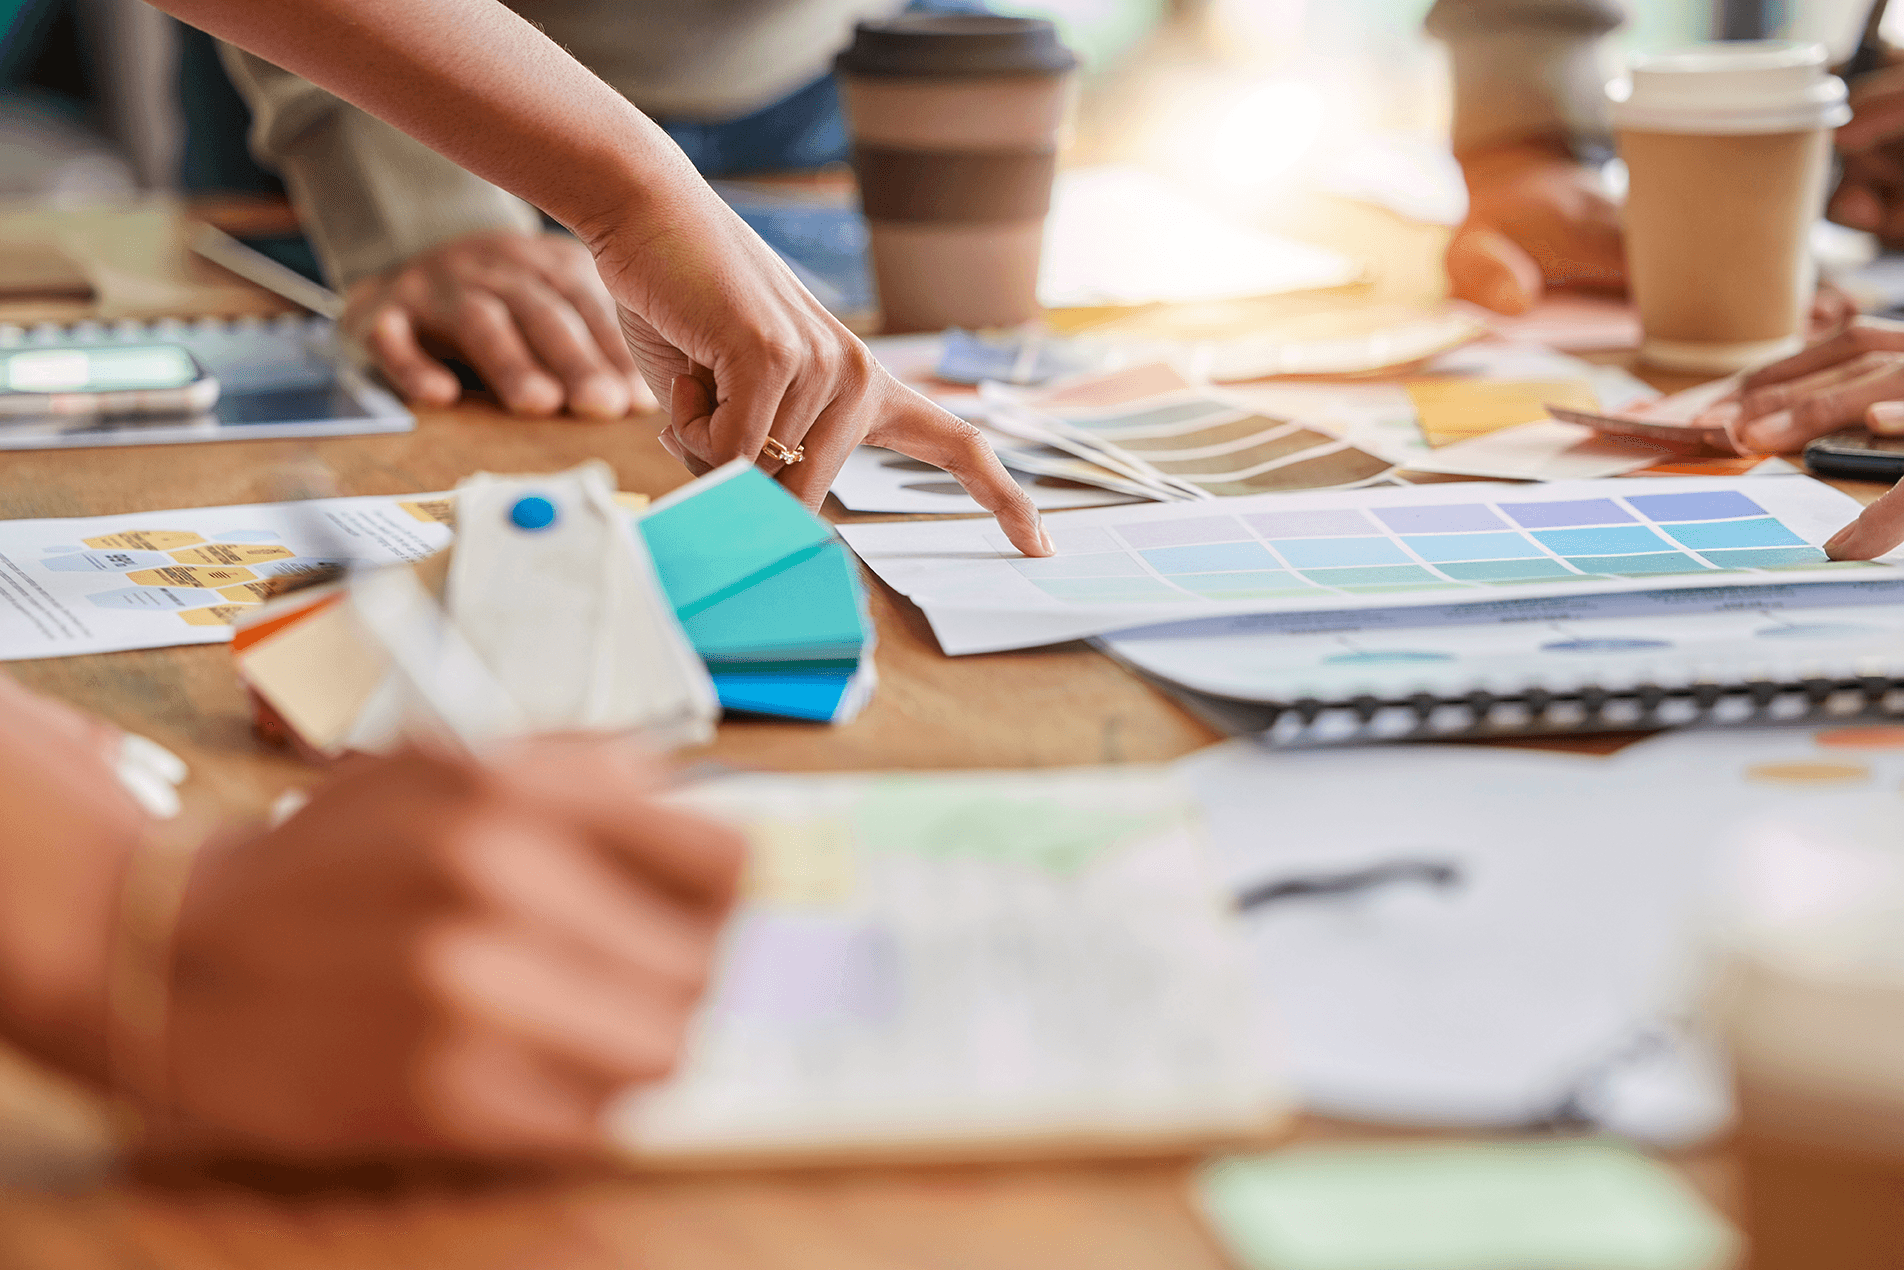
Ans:
<svg viewBox="0 0 1904 1270"><path fill-rule="evenodd" d="M168 446L282 436L356 436L417 427L402 402L358 373L327 318L196 318L0 326L0 350L175 345L217 375L219 400L190 417L34 419L0 425L0 449Z"/></svg>

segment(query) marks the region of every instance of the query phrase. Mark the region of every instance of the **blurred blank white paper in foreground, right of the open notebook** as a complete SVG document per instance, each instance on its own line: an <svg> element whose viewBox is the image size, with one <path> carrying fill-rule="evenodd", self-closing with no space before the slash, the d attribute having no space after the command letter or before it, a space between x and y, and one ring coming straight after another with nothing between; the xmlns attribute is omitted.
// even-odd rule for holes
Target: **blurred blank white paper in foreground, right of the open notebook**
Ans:
<svg viewBox="0 0 1904 1270"><path fill-rule="evenodd" d="M1672 1026L1712 880L1700 807L1647 764L1466 746L1179 765L1238 891L1401 861L1365 889L1245 910L1312 1110L1403 1123L1592 1116L1653 1141L1725 1120L1719 1072Z"/></svg>

